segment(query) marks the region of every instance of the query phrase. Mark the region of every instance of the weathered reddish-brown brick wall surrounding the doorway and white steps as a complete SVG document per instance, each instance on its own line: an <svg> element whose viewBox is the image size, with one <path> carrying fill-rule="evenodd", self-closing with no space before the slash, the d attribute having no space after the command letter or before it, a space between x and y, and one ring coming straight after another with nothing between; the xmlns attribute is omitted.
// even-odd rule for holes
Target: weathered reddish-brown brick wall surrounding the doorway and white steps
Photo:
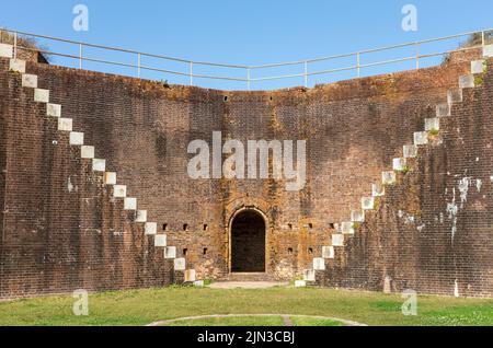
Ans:
<svg viewBox="0 0 493 348"><path fill-rule="evenodd" d="M232 217L252 208L266 221L267 275L291 279L331 244L334 223L359 209L360 197L435 116L469 61L275 92L167 86L35 62L27 71L199 278L229 274ZM46 106L32 102L32 90L7 65L1 60L0 297L174 281L171 262L131 223L134 212L118 207L101 174L56 132ZM461 294L493 294L492 80L490 71L482 88L465 94L458 117L439 134L444 143L420 154L403 184L390 188L378 212L326 262L319 282L382 290L387 277L395 291L452 294L457 280ZM213 131L244 143L307 139L306 188L191 179L187 144L210 143ZM473 184L467 200L458 188L465 177ZM449 214L454 192L459 208Z"/></svg>

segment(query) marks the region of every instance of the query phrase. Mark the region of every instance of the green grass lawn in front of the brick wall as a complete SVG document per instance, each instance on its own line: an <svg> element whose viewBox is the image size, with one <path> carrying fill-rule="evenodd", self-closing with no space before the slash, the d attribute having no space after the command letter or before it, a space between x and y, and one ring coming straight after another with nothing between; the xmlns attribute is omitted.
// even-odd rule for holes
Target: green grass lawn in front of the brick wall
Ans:
<svg viewBox="0 0 493 348"><path fill-rule="evenodd" d="M404 316L404 300L397 294L317 288L112 291L90 294L89 316L72 314L74 301L65 295L0 302L0 325L146 325L208 314L320 315L368 325L493 325L491 299L423 295L417 315Z"/></svg>

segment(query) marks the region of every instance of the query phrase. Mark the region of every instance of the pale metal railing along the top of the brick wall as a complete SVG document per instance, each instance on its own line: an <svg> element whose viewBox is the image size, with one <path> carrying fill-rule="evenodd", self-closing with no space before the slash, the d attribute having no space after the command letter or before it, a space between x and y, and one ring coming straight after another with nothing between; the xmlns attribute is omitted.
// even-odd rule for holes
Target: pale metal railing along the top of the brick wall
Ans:
<svg viewBox="0 0 493 348"><path fill-rule="evenodd" d="M360 50L360 51L355 51L355 53L349 53L349 54L344 54L344 55L335 55L335 56L329 56L329 57L278 62L278 63L245 66L245 65L217 63L217 62L208 62L208 61L194 61L194 60L188 60L188 59L168 57L168 56L161 56L161 55L156 55L156 54L148 54L148 53L117 48L117 47L94 45L94 44L89 44L89 43L76 42L76 40L70 40L70 39L65 39L65 38L59 38L59 37L53 37L53 36L46 36L46 35L33 34L33 33L21 32L21 31L13 31L13 30L4 30L3 28L3 30L0 30L0 32L2 35L3 35L3 32L9 33L11 39L13 36L14 57L16 57L19 48L22 48L25 50L38 51L41 54L48 55L48 56L76 59L76 60L78 60L79 69L83 69L84 61L99 62L99 63L117 66L117 67L133 68L136 70L137 78L141 77L142 71L152 71L152 72L158 72L158 73L163 73L163 74L187 77L190 80L188 83L191 85L194 84L194 81L196 79L239 81L239 82L245 83L248 90L251 89L251 84L254 82L293 79L293 78L301 78L303 81L303 85L308 86L310 77L331 74L331 73L342 72L342 71L355 71L356 72L355 77L359 78L362 76L362 70L365 68L386 66L386 65L404 62L404 61L415 61L415 68L420 69L420 61L425 58L445 56L445 55L448 55L448 54L451 54L455 51L466 51L466 50L483 48L486 45L486 36L491 36L493 34L493 30L483 30L483 31L478 31L478 32L461 33L461 34L444 36L444 37L438 37L438 38L432 38L432 39L425 39L425 40L420 40L420 42L412 42L412 43L406 43L406 44ZM0 42L2 40L2 38L1 38L2 35L0 36ZM460 38L460 37L471 37L472 35L477 35L475 37L480 37L480 44L471 45L471 46L467 46L467 47L460 47L457 49L447 49L447 50L435 51L435 53L431 53L431 54L421 54L421 48L426 44L445 42L445 40ZM25 45L23 46L20 44L21 37L35 38L35 39L48 39L48 40L54 40L54 42L58 42L58 43L76 45L78 47L78 55L73 55L73 54L70 55L67 53L53 51L53 50L42 49L38 47L34 47L34 46L33 47L25 46ZM405 56L405 57L401 57L401 58L386 59L386 60L381 60L381 61L372 61L372 62L368 62L368 63L362 63L362 58L364 56L368 56L368 55L371 55L375 53L389 51L392 49L404 48L404 47L414 48L414 54L412 56ZM123 53L123 54L131 55L135 57L134 58L135 63L112 61L112 60L100 59L100 58L95 58L95 57L91 58L91 57L88 57L84 55L84 48L96 48L96 49L103 49L105 51L114 51L114 53ZM186 68L182 71L179 71L179 70L164 69L160 65L157 67L156 66L146 66L142 63L144 58L160 59L163 61L163 63L170 63L170 62L183 63L186 66ZM313 71L310 69L310 66L313 63L322 62L322 61L326 62L326 61L336 60L336 59L341 59L341 58L354 59L354 63L349 65L349 66L340 67L340 68L333 68L333 69L322 69L322 70L313 70ZM195 73L194 67L197 67L197 66L218 67L218 68L241 70L243 77ZM252 78L253 71L260 71L260 70L272 69L272 68L280 68L280 67L297 67L297 66L300 67L299 73L288 73L288 74L277 74L277 76Z"/></svg>

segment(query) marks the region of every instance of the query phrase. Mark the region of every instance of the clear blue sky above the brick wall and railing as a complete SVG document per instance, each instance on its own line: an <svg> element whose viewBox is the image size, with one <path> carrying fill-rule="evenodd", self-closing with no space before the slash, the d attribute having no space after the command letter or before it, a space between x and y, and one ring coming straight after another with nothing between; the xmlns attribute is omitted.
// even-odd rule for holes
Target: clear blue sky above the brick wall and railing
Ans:
<svg viewBox="0 0 493 348"><path fill-rule="evenodd" d="M314 58L493 27L491 0L2 2L0 26L3 27L193 60L241 65ZM72 28L72 9L79 3L89 8L88 32ZM401 27L404 16L401 9L408 3L417 9L417 32L404 32ZM48 46L58 48L56 44ZM275 72L293 72L293 69ZM300 72L302 68L296 69ZM186 83L186 79L164 78ZM311 83L329 80L319 77ZM197 82L221 86L216 82ZM302 84L302 79L259 88L283 83ZM241 88L231 84L237 86Z"/></svg>

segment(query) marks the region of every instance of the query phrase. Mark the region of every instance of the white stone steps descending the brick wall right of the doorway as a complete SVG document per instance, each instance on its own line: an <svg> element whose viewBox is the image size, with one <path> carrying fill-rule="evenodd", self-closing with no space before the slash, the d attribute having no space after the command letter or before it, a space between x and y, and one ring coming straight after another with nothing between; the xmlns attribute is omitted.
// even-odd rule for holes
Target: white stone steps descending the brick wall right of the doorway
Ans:
<svg viewBox="0 0 493 348"><path fill-rule="evenodd" d="M344 251L345 242L355 235L358 227L365 222L365 217L377 210L377 201L386 195L386 188L398 184L398 174L404 174L410 170L413 161L416 161L420 149L432 144L433 135L440 129L440 121L452 116L452 105L462 102L462 90L475 86L477 78L481 78L488 69L488 58L493 57L493 45L483 49L484 59L471 62L471 73L461 76L457 89L451 89L447 93L447 102L436 106L436 117L426 118L424 130L414 132L414 143L404 144L402 158L392 160L392 170L382 172L381 182L371 185L371 195L362 198L362 209L349 213L349 220L335 224L336 232L332 234L332 245L322 247L322 255L313 258L310 269L303 270L303 281L298 286L307 286L317 281L317 272L325 270L325 259L335 258L336 250Z"/></svg>

